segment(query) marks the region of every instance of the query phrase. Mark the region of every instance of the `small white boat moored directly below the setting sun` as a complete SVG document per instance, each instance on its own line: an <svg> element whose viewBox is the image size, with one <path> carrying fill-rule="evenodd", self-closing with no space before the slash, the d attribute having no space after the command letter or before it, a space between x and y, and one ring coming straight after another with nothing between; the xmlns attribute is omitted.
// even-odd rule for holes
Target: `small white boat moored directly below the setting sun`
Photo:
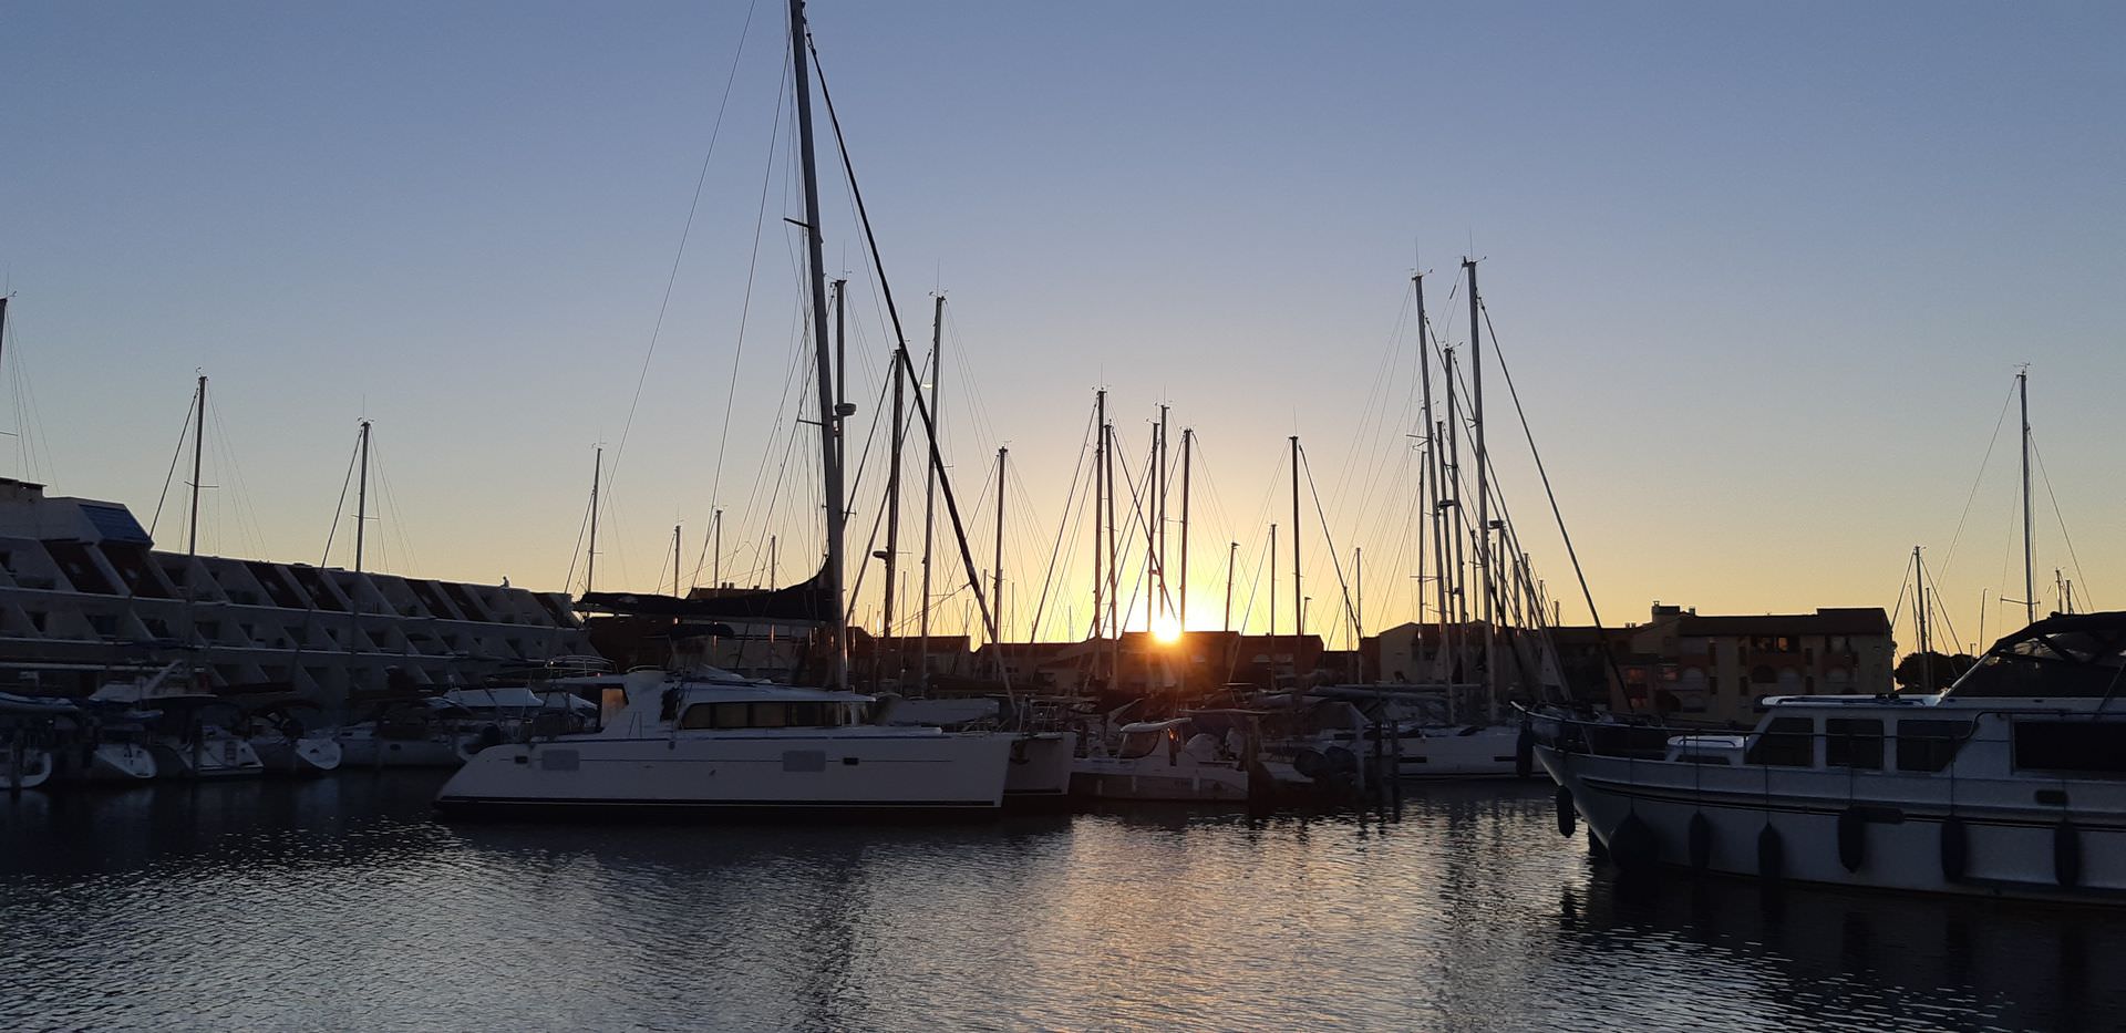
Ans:
<svg viewBox="0 0 2126 1033"><path fill-rule="evenodd" d="M1269 786L1252 780L1244 744L1231 740L1197 731L1188 716L1123 725L1112 752L1072 763L1072 795L1246 803L1250 786L1256 793L1267 793Z"/></svg>

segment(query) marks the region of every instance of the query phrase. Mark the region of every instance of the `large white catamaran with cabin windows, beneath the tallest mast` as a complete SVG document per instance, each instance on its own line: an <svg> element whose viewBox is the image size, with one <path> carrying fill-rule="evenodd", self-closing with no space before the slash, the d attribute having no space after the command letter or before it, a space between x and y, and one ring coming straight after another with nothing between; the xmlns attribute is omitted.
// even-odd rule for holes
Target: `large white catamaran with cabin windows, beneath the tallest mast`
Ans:
<svg viewBox="0 0 2126 1033"><path fill-rule="evenodd" d="M995 814L1012 735L870 723L874 697L702 674L574 680L595 733L502 744L436 795L444 814Z"/></svg>

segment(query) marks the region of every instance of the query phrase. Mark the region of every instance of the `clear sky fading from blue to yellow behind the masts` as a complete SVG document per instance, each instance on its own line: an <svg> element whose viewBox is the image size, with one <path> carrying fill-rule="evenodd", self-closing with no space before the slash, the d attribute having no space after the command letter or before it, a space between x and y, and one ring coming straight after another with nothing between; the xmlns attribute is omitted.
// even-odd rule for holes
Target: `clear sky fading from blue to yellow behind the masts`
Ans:
<svg viewBox="0 0 2126 1033"><path fill-rule="evenodd" d="M689 585L770 580L770 536L774 580L816 561L782 6L0 17L0 476L142 519L168 497L155 534L181 544L183 463L164 485L204 372L204 551L349 565L342 487L370 419L370 568L580 591L600 446L597 589L670 591L674 525ZM1097 387L1133 474L1161 402L1171 444L1193 427L1201 446L1191 627L1225 621L1227 542L1233 621L1267 627L1276 521L1290 631L1295 434L1307 629L1348 636L1333 599L1354 548L1365 625L1420 616L1410 276L1465 346L1465 255L1497 332L1501 495L1565 621L1588 604L1501 357L1605 623L1656 599L1899 608L1922 546L1937 636L2005 633L2022 563L2003 406L2024 366L2043 608L2054 570L2081 608L2126 606L2117 4L810 17L918 361L948 298L944 448L984 572L1010 448L1010 627L1089 623L1072 482ZM855 476L893 334L819 121L827 264L853 281ZM857 555L882 546L880 448L853 493ZM959 631L972 597L948 559L933 621ZM857 612L876 625L872 568Z"/></svg>

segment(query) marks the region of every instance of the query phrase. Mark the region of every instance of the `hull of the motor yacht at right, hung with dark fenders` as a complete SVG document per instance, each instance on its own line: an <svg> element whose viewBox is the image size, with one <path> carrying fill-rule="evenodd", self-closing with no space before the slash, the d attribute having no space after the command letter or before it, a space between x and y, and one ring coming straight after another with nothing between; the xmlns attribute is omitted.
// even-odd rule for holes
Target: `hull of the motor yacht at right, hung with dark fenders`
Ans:
<svg viewBox="0 0 2126 1033"><path fill-rule="evenodd" d="M1771 793L1756 765L1633 761L1550 746L1537 746L1535 757L1571 791L1588 831L1626 865L2126 903L2126 784L2075 782L2058 808L2035 810L2028 782L1777 769L1779 791Z"/></svg>

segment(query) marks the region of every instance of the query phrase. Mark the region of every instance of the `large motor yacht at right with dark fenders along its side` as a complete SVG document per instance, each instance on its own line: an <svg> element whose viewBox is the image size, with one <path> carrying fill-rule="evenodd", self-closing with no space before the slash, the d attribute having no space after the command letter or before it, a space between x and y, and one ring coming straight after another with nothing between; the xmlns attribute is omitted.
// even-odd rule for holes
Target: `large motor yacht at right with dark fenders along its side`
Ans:
<svg viewBox="0 0 2126 1033"><path fill-rule="evenodd" d="M1941 695L1775 697L1748 735L1558 716L1533 755L1624 867L2126 901L2126 612L2003 638ZM1571 810L1565 810L1571 808Z"/></svg>

